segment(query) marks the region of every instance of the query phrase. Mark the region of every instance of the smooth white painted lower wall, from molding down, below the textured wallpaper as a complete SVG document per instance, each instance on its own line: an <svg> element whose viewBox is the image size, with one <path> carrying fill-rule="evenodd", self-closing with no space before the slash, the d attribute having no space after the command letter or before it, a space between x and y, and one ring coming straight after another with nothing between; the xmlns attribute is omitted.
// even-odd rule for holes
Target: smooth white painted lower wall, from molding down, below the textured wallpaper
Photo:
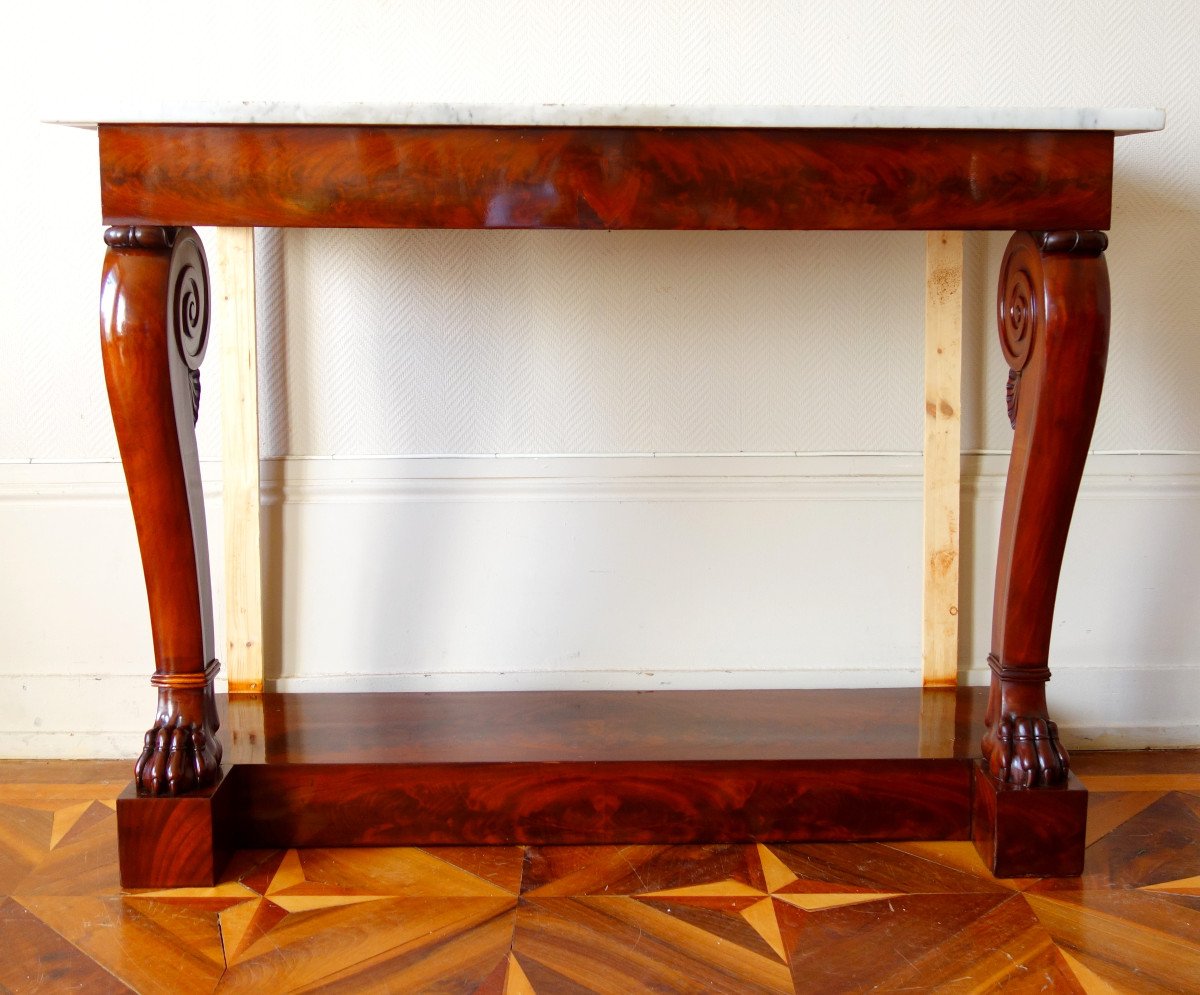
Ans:
<svg viewBox="0 0 1200 995"><path fill-rule="evenodd" d="M1006 467L964 457L965 683ZM263 481L271 690L919 682L919 456L278 460ZM136 754L149 619L119 464L0 463L0 755ZM1200 455L1091 458L1051 651L1069 744L1200 743L1196 550Z"/></svg>

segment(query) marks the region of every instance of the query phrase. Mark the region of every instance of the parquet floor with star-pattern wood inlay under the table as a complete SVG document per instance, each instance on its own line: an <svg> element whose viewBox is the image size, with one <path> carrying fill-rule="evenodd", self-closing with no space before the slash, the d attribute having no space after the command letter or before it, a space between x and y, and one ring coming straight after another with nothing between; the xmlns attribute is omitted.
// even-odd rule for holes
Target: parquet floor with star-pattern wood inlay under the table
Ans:
<svg viewBox="0 0 1200 995"><path fill-rule="evenodd" d="M1200 991L1200 751L1085 754L1081 879L971 844L240 852L122 893L127 763L0 762L5 991Z"/></svg>

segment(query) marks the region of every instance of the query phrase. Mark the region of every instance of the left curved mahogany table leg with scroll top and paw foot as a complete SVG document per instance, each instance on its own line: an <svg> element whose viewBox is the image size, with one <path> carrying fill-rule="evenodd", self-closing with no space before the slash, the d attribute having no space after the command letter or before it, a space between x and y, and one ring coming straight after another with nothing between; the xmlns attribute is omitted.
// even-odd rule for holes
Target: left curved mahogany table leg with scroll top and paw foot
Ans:
<svg viewBox="0 0 1200 995"><path fill-rule="evenodd" d="M221 771L212 594L196 451L209 330L204 250L191 228L104 234L100 328L116 440L133 505L158 712L136 767L139 795L179 795Z"/></svg>

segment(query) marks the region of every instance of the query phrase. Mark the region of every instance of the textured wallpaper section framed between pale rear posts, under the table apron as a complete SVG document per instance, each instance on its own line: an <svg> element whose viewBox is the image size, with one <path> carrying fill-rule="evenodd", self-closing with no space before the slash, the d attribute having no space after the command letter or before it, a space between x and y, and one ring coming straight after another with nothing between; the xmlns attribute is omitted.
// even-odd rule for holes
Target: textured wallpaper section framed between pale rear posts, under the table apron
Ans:
<svg viewBox="0 0 1200 995"><path fill-rule="evenodd" d="M264 450L911 451L923 246L907 233L268 238Z"/></svg>

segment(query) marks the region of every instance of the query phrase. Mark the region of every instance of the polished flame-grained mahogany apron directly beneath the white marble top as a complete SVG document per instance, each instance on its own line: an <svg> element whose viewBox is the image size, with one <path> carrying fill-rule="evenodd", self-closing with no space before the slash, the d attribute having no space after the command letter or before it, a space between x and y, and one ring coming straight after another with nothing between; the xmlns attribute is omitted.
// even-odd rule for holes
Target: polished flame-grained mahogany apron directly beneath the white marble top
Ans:
<svg viewBox="0 0 1200 995"><path fill-rule="evenodd" d="M101 125L109 224L1106 228L1111 132Z"/></svg>

